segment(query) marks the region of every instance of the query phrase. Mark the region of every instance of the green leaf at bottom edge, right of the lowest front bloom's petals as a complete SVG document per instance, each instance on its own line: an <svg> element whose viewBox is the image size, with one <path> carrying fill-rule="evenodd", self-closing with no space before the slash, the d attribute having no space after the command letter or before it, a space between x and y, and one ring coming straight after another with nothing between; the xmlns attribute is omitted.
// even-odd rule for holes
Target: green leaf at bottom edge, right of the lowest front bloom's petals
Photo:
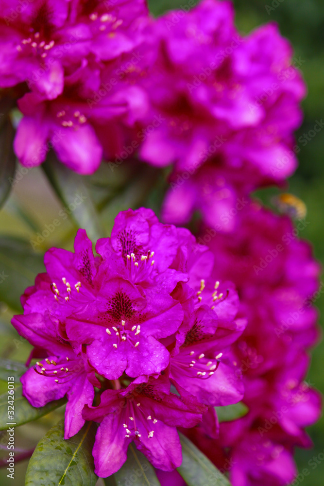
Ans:
<svg viewBox="0 0 324 486"><path fill-rule="evenodd" d="M180 435L182 464L177 471L188 486L231 486L228 479L184 435Z"/></svg>

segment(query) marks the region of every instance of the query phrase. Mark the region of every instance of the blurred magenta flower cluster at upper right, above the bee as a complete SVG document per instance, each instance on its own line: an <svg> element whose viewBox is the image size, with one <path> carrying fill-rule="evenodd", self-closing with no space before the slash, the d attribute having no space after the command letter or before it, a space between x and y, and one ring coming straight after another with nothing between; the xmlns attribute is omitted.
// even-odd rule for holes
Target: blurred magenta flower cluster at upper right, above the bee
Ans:
<svg viewBox="0 0 324 486"><path fill-rule="evenodd" d="M181 14L157 19L147 34L154 69L141 81L151 102L143 120L163 121L146 134L140 156L174 164L166 222L187 223L198 209L206 224L228 232L235 218L228 224L224 214L242 196L294 171L292 133L306 90L274 25L242 38L231 4L217 0Z"/></svg>

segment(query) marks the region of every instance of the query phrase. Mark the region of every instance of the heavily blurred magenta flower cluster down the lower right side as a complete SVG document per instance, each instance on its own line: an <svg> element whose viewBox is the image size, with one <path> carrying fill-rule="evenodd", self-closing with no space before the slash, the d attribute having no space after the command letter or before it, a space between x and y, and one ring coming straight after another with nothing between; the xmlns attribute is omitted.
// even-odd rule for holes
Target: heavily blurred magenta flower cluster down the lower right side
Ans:
<svg viewBox="0 0 324 486"><path fill-rule="evenodd" d="M239 315L248 322L232 352L249 412L221 423L217 443L201 428L191 438L220 468L231 469L234 486L290 484L293 448L311 445L305 427L321 413L319 394L304 382L307 350L318 339L313 303L320 273L309 244L298 239L304 228L305 221L294 227L287 216L249 201L237 229L210 243L214 275L237 285ZM229 448L227 458L222 448Z"/></svg>

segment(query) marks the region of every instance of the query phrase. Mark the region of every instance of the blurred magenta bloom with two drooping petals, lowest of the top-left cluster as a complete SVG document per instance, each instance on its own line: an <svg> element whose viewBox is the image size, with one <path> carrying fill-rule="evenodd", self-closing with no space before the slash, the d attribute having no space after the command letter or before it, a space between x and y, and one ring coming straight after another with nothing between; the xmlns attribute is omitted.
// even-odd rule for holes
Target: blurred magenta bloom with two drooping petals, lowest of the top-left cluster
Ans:
<svg viewBox="0 0 324 486"><path fill-rule="evenodd" d="M101 163L102 147L106 156L118 152L126 137L123 120L126 123L137 109L140 92L127 83L120 83L109 92L101 86L98 64L85 62L65 78L64 92L55 100L49 101L36 93L25 94L18 101L25 116L18 125L14 143L19 161L27 167L39 165L53 148L71 170L92 174ZM103 94L101 103L93 101L97 91ZM119 145L114 138L108 137L107 141L106 130L110 125L116 125Z"/></svg>

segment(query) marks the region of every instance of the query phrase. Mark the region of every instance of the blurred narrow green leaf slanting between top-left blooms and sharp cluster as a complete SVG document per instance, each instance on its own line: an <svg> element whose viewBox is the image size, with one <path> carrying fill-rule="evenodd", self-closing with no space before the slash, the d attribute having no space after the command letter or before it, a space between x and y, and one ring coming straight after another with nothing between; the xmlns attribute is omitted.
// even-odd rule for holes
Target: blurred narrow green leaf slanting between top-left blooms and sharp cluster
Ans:
<svg viewBox="0 0 324 486"><path fill-rule="evenodd" d="M70 171L64 164L58 162L53 154L48 156L42 168L52 188L62 201L66 213L75 224L85 229L93 242L104 237L105 234L87 188L85 177Z"/></svg>

